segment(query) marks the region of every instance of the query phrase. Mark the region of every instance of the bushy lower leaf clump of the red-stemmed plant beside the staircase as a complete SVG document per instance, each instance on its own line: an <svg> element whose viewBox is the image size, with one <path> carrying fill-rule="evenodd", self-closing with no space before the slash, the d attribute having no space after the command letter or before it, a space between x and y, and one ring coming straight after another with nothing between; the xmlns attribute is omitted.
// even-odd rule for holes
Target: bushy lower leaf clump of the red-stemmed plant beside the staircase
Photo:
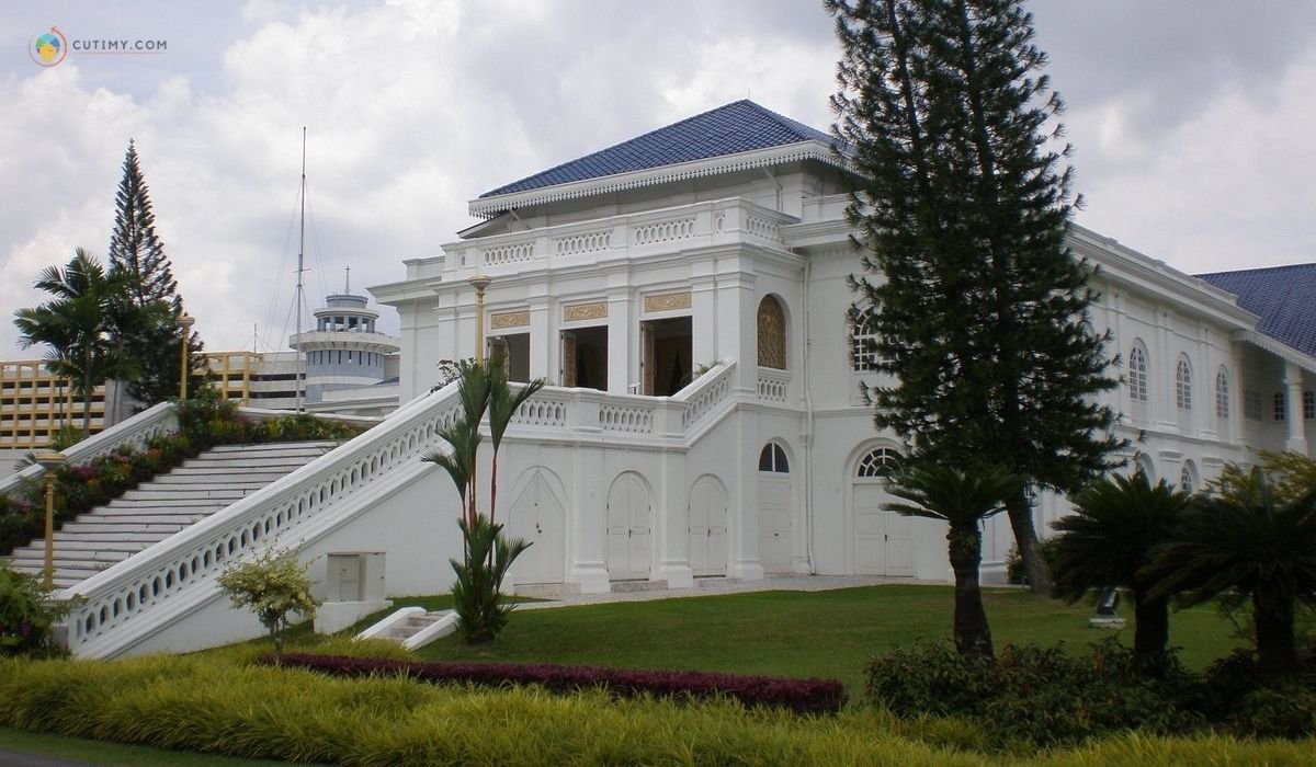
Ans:
<svg viewBox="0 0 1316 767"><path fill-rule="evenodd" d="M503 579L530 545L521 538L504 537L503 525L479 512L470 521L458 520L457 525L463 542L462 560L450 560L457 574L453 583L457 628L467 643L492 642L512 613L512 604L501 591Z"/></svg>

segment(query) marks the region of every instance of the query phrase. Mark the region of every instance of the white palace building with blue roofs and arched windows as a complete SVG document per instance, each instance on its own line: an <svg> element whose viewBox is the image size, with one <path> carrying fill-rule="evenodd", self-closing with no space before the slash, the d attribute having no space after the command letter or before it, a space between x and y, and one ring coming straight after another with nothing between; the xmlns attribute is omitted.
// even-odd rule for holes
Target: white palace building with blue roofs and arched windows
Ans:
<svg viewBox="0 0 1316 767"><path fill-rule="evenodd" d="M487 345L513 379L550 382L499 458L496 518L533 542L519 592L949 580L944 526L882 508L879 468L903 446L859 393L875 374L846 318L859 262L844 174L825 133L736 101L476 197L480 224L370 288L401 317L399 409L71 587L87 599L75 653L257 635L212 576L270 541L313 563L330 603L368 601L336 593L330 563L357 553L374 557L374 596L446 591L458 496L420 457L459 409L455 384L432 391L438 363L475 355L472 276L488 278ZM1079 226L1070 246L1100 268L1092 321L1124 360L1108 397L1132 460L1200 488L1255 449L1311 455L1316 264L1191 276ZM1041 497L1038 532L1065 510ZM984 578L1011 545L1007 521L988 524Z"/></svg>

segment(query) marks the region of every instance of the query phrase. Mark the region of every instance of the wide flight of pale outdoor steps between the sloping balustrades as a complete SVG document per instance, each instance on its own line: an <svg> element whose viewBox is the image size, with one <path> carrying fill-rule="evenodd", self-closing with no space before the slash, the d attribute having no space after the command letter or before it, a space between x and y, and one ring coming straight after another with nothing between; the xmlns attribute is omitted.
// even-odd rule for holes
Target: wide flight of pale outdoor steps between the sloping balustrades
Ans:
<svg viewBox="0 0 1316 767"><path fill-rule="evenodd" d="M333 450L334 442L226 445L64 522L55 533L54 584L67 588L204 520ZM45 542L13 550L11 566L45 571Z"/></svg>

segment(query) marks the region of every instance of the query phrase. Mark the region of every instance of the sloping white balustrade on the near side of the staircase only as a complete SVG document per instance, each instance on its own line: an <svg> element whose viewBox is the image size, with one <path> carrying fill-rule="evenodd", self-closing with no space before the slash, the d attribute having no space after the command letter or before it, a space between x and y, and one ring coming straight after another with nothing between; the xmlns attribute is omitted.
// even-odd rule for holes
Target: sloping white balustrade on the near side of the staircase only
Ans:
<svg viewBox="0 0 1316 767"><path fill-rule="evenodd" d="M211 580L230 560L265 550L303 522L404 463L417 462L461 410L457 383L408 403L393 417L228 508L146 547L63 592L78 597L68 646L129 624L188 587ZM284 538L287 541L287 538Z"/></svg>

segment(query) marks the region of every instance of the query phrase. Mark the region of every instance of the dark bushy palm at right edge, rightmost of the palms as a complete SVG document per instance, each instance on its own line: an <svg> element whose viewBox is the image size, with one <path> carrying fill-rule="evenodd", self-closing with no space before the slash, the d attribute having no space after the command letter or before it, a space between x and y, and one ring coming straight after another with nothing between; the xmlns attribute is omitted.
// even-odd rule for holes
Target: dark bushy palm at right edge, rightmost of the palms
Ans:
<svg viewBox="0 0 1316 767"><path fill-rule="evenodd" d="M1186 605L1252 600L1257 659L1267 675L1298 670L1296 603L1316 604L1316 487L1280 500L1261 468L1198 499L1175 539L1153 551L1153 596Z"/></svg>

